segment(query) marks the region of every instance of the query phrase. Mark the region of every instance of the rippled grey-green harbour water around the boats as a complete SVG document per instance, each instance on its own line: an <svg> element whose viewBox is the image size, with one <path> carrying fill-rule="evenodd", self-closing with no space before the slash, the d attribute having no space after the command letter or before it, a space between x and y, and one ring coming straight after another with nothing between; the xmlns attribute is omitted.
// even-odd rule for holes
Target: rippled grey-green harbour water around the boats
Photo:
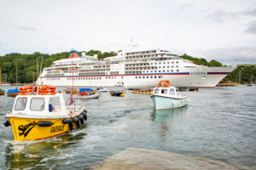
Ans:
<svg viewBox="0 0 256 170"><path fill-rule="evenodd" d="M3 126L15 98L0 96L0 169L90 168L129 147L255 168L256 87L201 88L183 94L189 96L188 106L163 111L154 111L150 95L131 91L124 98L102 93L99 99L76 99L88 110L83 127L27 142L15 142L11 127Z"/></svg>

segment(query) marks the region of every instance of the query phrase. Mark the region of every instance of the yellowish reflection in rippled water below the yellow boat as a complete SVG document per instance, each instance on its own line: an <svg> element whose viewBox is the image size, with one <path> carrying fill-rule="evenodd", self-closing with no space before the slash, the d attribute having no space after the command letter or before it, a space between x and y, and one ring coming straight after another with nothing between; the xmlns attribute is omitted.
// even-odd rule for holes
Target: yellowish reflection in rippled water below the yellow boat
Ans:
<svg viewBox="0 0 256 170"><path fill-rule="evenodd" d="M42 141L9 143L4 154L5 167L6 169L52 168L52 165L56 166L55 161L65 161L63 153L71 154L68 148L84 139L85 135L86 133L73 131L73 133Z"/></svg>

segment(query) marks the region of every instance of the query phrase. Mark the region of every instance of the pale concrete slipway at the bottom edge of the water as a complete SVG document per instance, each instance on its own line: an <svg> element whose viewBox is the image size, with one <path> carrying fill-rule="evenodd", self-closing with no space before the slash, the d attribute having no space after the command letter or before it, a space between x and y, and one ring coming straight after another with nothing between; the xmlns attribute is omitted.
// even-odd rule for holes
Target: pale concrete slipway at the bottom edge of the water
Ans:
<svg viewBox="0 0 256 170"><path fill-rule="evenodd" d="M206 158L183 156L176 153L169 153L156 150L144 150L137 148L128 148L118 154L109 157L102 164L92 167L97 170L149 170L149 169L256 169L255 167L241 167Z"/></svg>

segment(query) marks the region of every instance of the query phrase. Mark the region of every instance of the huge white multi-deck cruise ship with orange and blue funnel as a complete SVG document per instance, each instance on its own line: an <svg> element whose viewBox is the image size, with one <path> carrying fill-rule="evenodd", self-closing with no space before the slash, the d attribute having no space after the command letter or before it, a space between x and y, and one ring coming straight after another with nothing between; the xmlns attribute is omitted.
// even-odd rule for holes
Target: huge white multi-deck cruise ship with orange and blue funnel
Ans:
<svg viewBox="0 0 256 170"><path fill-rule="evenodd" d="M207 67L163 49L119 51L99 60L71 50L67 59L44 68L39 84L79 87L152 88L169 80L180 88L213 88L236 67Z"/></svg>

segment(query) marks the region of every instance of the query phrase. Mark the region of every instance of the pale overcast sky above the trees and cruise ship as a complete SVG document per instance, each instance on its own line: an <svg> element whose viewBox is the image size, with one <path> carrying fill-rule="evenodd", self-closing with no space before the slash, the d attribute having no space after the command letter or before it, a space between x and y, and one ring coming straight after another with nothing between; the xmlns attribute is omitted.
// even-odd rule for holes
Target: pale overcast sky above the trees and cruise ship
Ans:
<svg viewBox="0 0 256 170"><path fill-rule="evenodd" d="M0 20L0 55L117 51L132 39L256 64L256 0L0 0Z"/></svg>

